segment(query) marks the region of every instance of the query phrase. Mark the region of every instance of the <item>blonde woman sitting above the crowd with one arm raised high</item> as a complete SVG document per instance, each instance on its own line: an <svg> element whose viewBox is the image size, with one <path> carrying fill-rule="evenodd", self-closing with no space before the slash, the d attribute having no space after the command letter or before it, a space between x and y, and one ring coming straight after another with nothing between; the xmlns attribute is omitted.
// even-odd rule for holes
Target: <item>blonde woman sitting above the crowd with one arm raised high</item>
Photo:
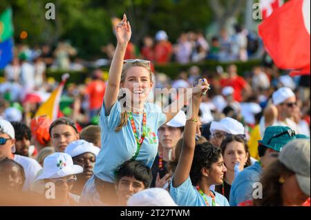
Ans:
<svg viewBox="0 0 311 220"><path fill-rule="evenodd" d="M100 112L102 150L95 163L94 175L88 179L82 192L82 197L86 195L90 199L94 194L100 194L106 205L117 203L113 184L115 170L129 160L141 161L151 168L158 150L158 128L173 119L187 103L186 93L180 95L175 108L168 106L165 113L156 104L148 103L153 87L151 63L138 59L124 60L126 46L131 39L131 25L125 14L116 26L115 34L117 47ZM205 81L192 93L207 90L208 86ZM92 190L94 186L96 190Z"/></svg>

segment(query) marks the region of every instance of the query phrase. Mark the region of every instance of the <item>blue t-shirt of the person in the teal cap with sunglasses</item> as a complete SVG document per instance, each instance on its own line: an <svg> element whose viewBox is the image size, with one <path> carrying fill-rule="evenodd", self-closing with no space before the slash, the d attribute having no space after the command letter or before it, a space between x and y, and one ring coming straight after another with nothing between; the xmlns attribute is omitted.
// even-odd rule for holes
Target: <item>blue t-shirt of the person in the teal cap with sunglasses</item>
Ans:
<svg viewBox="0 0 311 220"><path fill-rule="evenodd" d="M238 206L246 200L254 199L254 183L259 182L263 168L258 162L242 170L234 179L230 190L230 206Z"/></svg>

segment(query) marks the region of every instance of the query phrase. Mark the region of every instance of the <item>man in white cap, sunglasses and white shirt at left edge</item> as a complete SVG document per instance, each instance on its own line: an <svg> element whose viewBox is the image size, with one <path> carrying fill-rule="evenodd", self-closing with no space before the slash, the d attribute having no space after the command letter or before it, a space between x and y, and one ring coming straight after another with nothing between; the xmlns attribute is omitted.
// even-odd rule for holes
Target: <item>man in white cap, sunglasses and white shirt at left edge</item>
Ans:
<svg viewBox="0 0 311 220"><path fill-rule="evenodd" d="M15 152L15 142L15 130L12 124L9 121L0 119L0 157L8 157L23 166L26 174L23 191L27 191L35 181L35 176L41 170L41 166L35 159L12 154Z"/></svg>

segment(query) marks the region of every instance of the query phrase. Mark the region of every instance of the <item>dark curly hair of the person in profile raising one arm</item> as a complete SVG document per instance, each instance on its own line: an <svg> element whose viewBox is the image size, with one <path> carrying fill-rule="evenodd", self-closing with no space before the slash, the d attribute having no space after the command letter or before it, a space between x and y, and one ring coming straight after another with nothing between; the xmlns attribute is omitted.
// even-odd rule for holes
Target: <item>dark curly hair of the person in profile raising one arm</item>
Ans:
<svg viewBox="0 0 311 220"><path fill-rule="evenodd" d="M210 169L213 163L216 163L221 156L221 149L213 146L209 142L196 145L194 150L194 160L190 170L190 179L193 186L198 185L202 177L202 168Z"/></svg>

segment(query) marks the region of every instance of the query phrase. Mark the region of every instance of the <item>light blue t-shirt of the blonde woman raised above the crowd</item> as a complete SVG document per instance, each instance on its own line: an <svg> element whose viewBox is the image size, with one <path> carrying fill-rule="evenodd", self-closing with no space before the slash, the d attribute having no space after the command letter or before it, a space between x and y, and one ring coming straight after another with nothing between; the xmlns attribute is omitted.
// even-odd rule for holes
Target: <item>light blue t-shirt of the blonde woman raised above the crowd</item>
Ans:
<svg viewBox="0 0 311 220"><path fill-rule="evenodd" d="M111 183L114 182L115 170L120 167L122 163L131 159L137 150L137 143L130 119L128 119L126 126L124 126L120 132L115 132L115 128L117 128L120 123L121 112L119 101L115 102L109 116L105 116L104 104L100 112L102 149L96 159L94 174L103 181ZM145 103L144 112L147 113L147 133L142 142L138 157L136 157L135 160L141 161L145 166L151 168L158 152L157 131L166 121L167 117L162 113L160 107L153 103ZM142 114L133 114L137 130L139 130L139 128L142 129L142 118Z"/></svg>

